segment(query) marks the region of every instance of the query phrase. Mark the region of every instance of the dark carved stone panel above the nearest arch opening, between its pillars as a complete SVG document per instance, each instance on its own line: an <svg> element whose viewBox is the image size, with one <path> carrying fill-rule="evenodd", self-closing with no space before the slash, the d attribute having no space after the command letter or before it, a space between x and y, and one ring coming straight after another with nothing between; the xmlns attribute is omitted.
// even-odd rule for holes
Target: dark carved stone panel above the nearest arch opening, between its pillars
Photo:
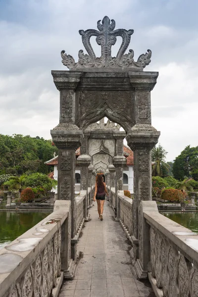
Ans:
<svg viewBox="0 0 198 297"><path fill-rule="evenodd" d="M78 126L83 130L105 115L125 130L134 125L133 91L78 91L78 98Z"/></svg>

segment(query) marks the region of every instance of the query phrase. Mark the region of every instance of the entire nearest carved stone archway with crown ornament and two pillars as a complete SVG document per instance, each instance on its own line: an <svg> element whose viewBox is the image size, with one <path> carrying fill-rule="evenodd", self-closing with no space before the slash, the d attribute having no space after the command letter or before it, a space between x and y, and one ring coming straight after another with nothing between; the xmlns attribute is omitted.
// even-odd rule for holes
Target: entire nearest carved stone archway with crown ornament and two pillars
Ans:
<svg viewBox="0 0 198 297"><path fill-rule="evenodd" d="M128 146L134 151L133 236L138 239L138 207L141 200L151 199L151 148L157 143L159 132L151 126L150 91L156 84L158 72L144 72L150 63L151 51L134 61L129 49L134 30L115 28L115 21L105 16L98 21L98 30L80 30L88 54L79 51L78 62L61 51L62 62L69 71L52 71L56 88L60 91L60 122L51 130L58 153L58 199L69 199L72 205L72 238L75 236L75 149L81 146L85 129L104 116L120 124L127 133ZM96 36L101 56L96 57L90 44ZM122 44L116 57L111 47L116 37ZM91 160L82 152L81 164ZM87 158L87 159L86 159ZM89 162L88 162L89 161ZM120 166L120 154L114 165ZM83 179L83 175L82 175ZM75 248L74 248L75 250ZM138 246L134 247L138 258Z"/></svg>

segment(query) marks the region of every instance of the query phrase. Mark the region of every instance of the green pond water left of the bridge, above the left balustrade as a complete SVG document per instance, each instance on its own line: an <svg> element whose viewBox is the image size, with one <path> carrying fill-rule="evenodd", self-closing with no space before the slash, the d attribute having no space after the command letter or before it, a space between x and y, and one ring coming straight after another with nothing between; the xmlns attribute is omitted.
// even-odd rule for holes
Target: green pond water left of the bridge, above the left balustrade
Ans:
<svg viewBox="0 0 198 297"><path fill-rule="evenodd" d="M38 224L49 213L0 211L0 248Z"/></svg>

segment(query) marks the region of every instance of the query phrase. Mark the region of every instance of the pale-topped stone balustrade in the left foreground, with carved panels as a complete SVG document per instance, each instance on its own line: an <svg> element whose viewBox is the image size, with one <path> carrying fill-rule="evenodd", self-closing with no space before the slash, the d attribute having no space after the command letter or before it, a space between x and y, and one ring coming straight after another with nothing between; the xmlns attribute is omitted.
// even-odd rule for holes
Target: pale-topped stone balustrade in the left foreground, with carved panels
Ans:
<svg viewBox="0 0 198 297"><path fill-rule="evenodd" d="M71 202L0 249L0 297L57 296L71 262Z"/></svg>

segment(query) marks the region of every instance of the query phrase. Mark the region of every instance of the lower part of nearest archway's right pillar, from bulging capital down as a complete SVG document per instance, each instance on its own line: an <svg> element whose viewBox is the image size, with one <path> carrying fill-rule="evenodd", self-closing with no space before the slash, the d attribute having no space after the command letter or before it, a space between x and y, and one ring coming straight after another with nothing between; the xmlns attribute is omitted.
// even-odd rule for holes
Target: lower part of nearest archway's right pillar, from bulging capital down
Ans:
<svg viewBox="0 0 198 297"><path fill-rule="evenodd" d="M157 143L158 137L159 132L150 125L148 127L135 125L126 137L129 147L134 152L133 250L131 251L133 263L139 258L139 205L141 200L152 200L151 149Z"/></svg>

